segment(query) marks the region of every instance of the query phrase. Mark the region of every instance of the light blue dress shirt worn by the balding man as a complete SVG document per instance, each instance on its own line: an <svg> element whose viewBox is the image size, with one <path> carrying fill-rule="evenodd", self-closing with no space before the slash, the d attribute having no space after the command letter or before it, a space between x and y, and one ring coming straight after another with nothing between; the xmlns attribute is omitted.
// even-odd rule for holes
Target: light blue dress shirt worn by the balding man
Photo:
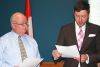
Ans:
<svg viewBox="0 0 100 67"><path fill-rule="evenodd" d="M27 35L22 35L21 39L27 56L29 58L40 58L38 44L35 39ZM11 31L0 38L0 67L14 67L21 64L18 35Z"/></svg>

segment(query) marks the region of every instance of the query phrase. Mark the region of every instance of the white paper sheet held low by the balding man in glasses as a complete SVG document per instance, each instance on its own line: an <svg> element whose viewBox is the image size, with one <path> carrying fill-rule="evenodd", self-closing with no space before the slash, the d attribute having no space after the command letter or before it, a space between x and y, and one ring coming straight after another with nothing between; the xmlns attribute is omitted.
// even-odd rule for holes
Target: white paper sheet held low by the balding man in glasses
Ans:
<svg viewBox="0 0 100 67"><path fill-rule="evenodd" d="M20 67L37 67L43 58L26 58Z"/></svg>

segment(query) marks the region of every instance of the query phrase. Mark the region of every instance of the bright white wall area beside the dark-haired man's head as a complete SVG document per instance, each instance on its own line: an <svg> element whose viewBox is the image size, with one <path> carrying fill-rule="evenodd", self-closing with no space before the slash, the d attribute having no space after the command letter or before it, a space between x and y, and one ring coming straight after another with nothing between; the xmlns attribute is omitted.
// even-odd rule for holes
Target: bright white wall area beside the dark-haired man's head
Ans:
<svg viewBox="0 0 100 67"><path fill-rule="evenodd" d="M100 0L89 0L91 23L100 25Z"/></svg>

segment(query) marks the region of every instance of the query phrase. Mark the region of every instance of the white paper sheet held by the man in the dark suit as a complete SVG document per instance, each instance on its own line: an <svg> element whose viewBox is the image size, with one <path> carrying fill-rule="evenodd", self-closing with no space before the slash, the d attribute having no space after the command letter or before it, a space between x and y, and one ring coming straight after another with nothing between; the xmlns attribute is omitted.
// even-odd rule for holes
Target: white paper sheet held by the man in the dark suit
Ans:
<svg viewBox="0 0 100 67"><path fill-rule="evenodd" d="M64 57L64 58L80 57L80 54L76 45L72 45L72 46L56 45L56 48L61 53L61 57Z"/></svg>

